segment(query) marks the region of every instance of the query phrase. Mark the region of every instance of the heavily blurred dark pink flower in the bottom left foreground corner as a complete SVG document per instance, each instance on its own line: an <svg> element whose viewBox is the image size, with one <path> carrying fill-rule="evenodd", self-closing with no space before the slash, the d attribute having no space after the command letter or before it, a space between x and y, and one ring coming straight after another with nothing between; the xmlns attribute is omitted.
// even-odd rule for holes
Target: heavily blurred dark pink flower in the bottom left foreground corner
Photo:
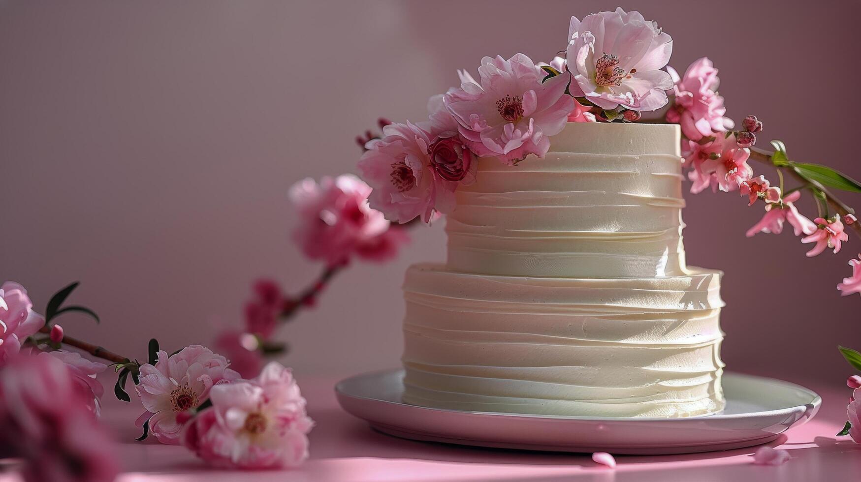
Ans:
<svg viewBox="0 0 861 482"><path fill-rule="evenodd" d="M28 482L110 482L115 442L53 356L19 355L0 370L0 457L21 457Z"/></svg>

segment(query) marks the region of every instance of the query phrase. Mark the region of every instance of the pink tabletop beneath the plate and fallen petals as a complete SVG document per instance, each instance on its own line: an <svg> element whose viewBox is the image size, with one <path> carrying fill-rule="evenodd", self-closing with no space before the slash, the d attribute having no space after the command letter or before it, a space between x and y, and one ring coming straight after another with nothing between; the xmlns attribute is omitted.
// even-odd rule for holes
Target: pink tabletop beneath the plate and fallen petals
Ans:
<svg viewBox="0 0 861 482"><path fill-rule="evenodd" d="M597 480L648 482L652 480L817 481L861 479L861 445L848 436L834 436L846 421L850 391L840 380L828 384L790 380L820 393L819 414L792 429L777 448L790 451L792 460L779 467L754 466L755 448L726 452L662 456L617 456L615 470L592 462L589 454L535 453L505 449L469 448L432 442L413 442L369 429L367 423L341 410L335 399L335 379L299 380L308 411L317 423L311 439L311 459L288 471L232 472L213 470L184 448L148 440L133 442L139 405L109 401L103 419L117 429L123 442L125 472L118 482L221 482L233 480ZM107 395L106 395L107 397ZM0 477L4 482L9 475Z"/></svg>

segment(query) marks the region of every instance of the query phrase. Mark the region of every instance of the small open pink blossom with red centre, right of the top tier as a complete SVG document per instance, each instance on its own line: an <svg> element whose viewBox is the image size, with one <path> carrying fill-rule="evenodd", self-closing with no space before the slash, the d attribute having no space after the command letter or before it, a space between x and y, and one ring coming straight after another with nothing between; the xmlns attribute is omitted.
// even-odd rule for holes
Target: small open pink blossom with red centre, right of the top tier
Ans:
<svg viewBox="0 0 861 482"><path fill-rule="evenodd" d="M708 145L697 145L695 151L694 170L688 173L693 182L691 193L697 194L709 185L715 191L718 188L724 192L734 191L741 182L753 177L753 169L747 165L751 152L736 145L732 134L729 137L719 135Z"/></svg>

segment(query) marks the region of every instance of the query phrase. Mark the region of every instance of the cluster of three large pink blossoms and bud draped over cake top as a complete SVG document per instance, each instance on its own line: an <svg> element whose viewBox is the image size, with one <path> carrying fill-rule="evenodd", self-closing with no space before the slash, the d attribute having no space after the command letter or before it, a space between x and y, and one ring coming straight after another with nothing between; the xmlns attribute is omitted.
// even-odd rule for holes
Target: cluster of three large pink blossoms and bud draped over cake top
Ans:
<svg viewBox="0 0 861 482"><path fill-rule="evenodd" d="M459 87L431 98L427 121L383 127L359 161L371 207L392 221L430 222L454 209L455 190L474 182L479 158L543 158L567 122L598 121L592 108L634 121L666 104L672 77L660 69L672 39L638 12L572 17L566 51L537 65L523 53L485 57L477 80L459 71Z"/></svg>

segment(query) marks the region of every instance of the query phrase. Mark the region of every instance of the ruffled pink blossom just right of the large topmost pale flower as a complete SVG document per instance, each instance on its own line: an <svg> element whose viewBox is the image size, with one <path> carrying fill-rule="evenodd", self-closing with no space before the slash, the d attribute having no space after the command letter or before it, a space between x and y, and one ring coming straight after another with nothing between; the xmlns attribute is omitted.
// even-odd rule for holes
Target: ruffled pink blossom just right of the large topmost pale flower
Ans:
<svg viewBox="0 0 861 482"><path fill-rule="evenodd" d="M667 66L676 91L673 113L677 117L669 116L681 125L684 137L691 140L699 140L705 136L717 136L733 128L733 121L724 117L727 108L723 106L723 97L718 96L717 69L711 60L703 57L696 60L684 77L678 77L672 67Z"/></svg>

